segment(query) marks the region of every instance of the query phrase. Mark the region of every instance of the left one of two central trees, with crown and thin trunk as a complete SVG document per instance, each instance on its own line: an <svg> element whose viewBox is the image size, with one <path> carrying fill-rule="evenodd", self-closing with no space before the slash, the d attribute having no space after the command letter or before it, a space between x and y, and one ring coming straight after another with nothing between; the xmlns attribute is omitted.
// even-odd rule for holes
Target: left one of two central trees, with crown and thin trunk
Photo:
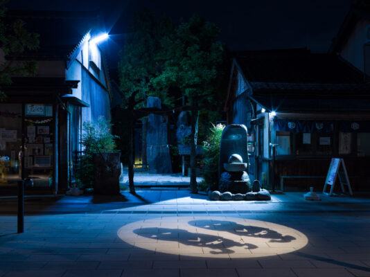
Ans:
<svg viewBox="0 0 370 277"><path fill-rule="evenodd" d="M164 103L172 102L166 84L154 85L152 80L159 75L163 65L163 60L158 58L161 40L171 35L174 28L173 21L168 17L161 17L157 20L150 10L140 10L134 15L133 24L125 39L123 51L121 51L118 73L120 88L125 100L122 109L118 110L116 123L127 125L128 175L132 194L135 194L133 125L136 120L147 116L150 111L159 111L145 107L147 96L157 96ZM143 133L145 134L145 130Z"/></svg>

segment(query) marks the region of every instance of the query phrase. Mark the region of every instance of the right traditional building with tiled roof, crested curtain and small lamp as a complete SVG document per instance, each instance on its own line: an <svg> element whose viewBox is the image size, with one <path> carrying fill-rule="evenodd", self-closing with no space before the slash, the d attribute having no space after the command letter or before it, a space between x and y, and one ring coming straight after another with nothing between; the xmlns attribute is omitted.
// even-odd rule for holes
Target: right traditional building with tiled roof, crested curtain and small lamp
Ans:
<svg viewBox="0 0 370 277"><path fill-rule="evenodd" d="M370 86L338 55L236 53L224 109L228 123L247 126L252 179L322 189L331 158L340 157L354 190L370 188Z"/></svg>

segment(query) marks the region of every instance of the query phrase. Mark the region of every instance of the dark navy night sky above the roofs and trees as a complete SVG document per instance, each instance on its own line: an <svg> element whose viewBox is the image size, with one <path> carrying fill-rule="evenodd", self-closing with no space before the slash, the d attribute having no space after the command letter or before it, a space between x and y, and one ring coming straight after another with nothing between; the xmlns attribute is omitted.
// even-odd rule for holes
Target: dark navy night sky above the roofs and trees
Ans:
<svg viewBox="0 0 370 277"><path fill-rule="evenodd" d="M310 1L163 1L163 0L10 0L9 8L24 10L102 10L112 40L121 48L121 34L132 14L151 8L160 16L188 19L198 13L221 29L220 40L231 51L307 47L326 52L353 0ZM112 53L112 52L111 52Z"/></svg>

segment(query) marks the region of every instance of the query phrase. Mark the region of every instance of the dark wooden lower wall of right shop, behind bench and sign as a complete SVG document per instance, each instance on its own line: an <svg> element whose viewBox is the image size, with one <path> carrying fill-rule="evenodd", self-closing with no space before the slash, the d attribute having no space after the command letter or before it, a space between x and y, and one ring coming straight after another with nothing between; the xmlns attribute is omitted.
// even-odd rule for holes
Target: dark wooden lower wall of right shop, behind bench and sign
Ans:
<svg viewBox="0 0 370 277"><path fill-rule="evenodd" d="M315 160L276 160L276 188L280 188L280 176L326 176L331 159ZM367 177L369 158L344 159L354 191L370 191L370 179ZM285 179L286 188L308 189L314 186L320 191L324 188L325 179ZM339 184L337 184L339 186Z"/></svg>

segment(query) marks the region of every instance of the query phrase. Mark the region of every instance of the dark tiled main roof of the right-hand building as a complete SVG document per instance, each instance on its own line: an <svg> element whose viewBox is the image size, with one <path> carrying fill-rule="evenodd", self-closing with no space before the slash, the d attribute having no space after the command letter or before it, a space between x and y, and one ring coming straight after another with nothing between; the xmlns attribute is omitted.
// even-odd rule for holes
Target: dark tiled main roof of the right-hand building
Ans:
<svg viewBox="0 0 370 277"><path fill-rule="evenodd" d="M337 55L311 53L307 49L238 52L236 61L249 82L312 86L363 81L362 73Z"/></svg>

